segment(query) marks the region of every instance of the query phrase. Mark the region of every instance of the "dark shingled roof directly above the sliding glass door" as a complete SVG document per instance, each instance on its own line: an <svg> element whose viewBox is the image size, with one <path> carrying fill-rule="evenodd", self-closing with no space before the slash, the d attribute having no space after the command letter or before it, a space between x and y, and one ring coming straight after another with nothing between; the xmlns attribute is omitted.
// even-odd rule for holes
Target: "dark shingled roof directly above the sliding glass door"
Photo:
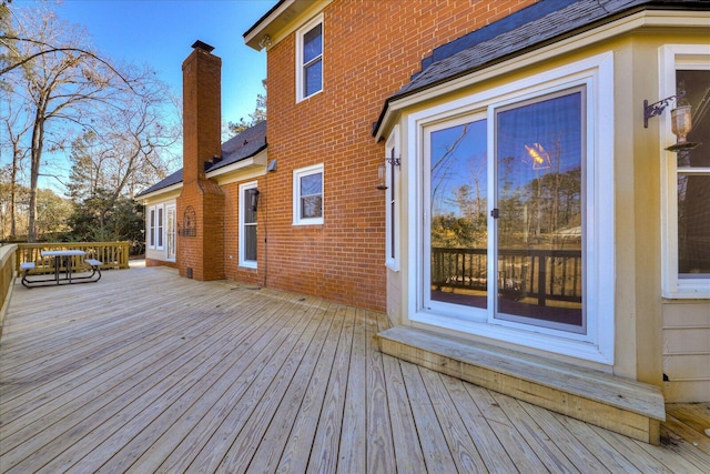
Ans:
<svg viewBox="0 0 710 474"><path fill-rule="evenodd" d="M377 133L390 102L487 68L496 62L591 29L639 8L707 10L707 0L542 0L434 50L422 61L422 72L389 97L375 123Z"/></svg>

